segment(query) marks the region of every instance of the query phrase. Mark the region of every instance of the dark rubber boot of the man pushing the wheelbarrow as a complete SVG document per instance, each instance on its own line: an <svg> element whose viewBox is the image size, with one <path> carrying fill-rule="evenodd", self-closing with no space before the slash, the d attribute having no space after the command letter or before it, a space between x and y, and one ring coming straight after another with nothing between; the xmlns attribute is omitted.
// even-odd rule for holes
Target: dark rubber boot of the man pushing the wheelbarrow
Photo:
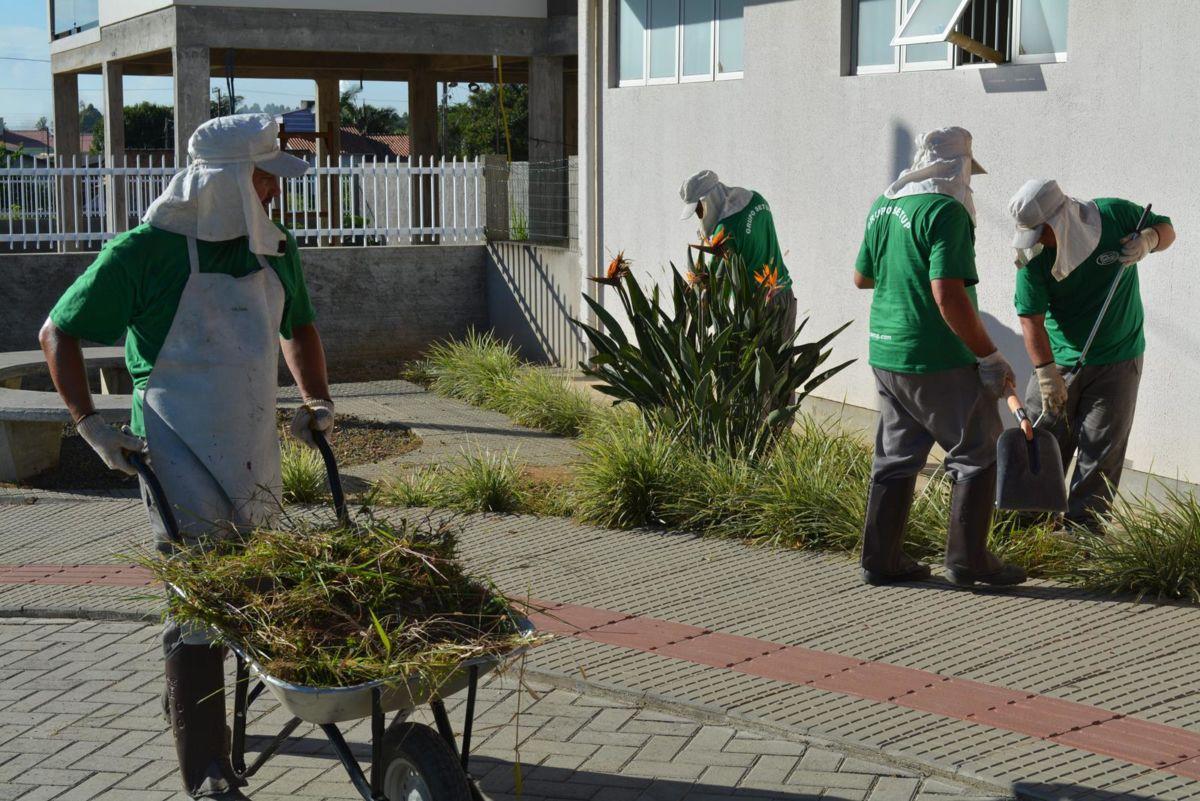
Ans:
<svg viewBox="0 0 1200 801"><path fill-rule="evenodd" d="M170 729L184 789L193 799L248 801L238 789L226 737L224 652L180 645L167 657Z"/></svg>

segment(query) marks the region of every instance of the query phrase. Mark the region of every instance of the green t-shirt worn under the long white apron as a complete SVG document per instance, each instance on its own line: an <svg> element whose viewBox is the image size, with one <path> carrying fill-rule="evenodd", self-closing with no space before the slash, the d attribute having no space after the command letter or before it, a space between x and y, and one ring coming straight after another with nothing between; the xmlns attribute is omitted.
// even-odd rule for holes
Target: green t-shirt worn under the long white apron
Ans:
<svg viewBox="0 0 1200 801"><path fill-rule="evenodd" d="M287 253L266 260L283 284L280 335L290 338L294 327L316 319L316 312L308 300L295 239L283 230L288 234ZM246 237L196 245L200 272L240 278L259 269ZM143 223L108 242L50 309L54 325L73 337L114 344L125 336L125 363L134 387L130 422L134 434L145 434L142 392L190 275L186 237Z"/></svg>

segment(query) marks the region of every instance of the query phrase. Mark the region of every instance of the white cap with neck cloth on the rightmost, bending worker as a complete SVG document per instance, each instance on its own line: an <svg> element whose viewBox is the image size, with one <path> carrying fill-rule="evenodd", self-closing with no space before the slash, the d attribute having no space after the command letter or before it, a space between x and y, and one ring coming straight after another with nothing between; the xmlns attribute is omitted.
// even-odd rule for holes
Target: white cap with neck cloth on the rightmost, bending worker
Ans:
<svg viewBox="0 0 1200 801"><path fill-rule="evenodd" d="M1032 179L1008 201L1016 221L1013 247L1033 248L1042 239L1043 225L1055 237L1055 261L1050 273L1058 281L1069 276L1100 243L1100 210L1092 200L1067 195L1057 181Z"/></svg>

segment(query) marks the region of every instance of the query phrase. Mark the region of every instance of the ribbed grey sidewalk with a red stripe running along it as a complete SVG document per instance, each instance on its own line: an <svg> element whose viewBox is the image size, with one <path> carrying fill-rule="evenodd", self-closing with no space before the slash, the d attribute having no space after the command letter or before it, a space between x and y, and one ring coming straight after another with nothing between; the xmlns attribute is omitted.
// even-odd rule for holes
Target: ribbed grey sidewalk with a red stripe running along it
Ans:
<svg viewBox="0 0 1200 801"><path fill-rule="evenodd" d="M438 436L414 427L445 447L443 458L467 433L542 463L572 452L403 383L343 392L340 406L358 404L353 414L440 421ZM0 609L155 614L152 589L119 585L137 573L95 567L128 564L114 554L145 536L136 502L0 508L0 565L32 566L0 567ZM996 794L1200 797L1194 607L1045 582L978 594L941 580L865 588L846 559L812 553L562 519L461 523L467 561L547 607L539 625L564 634L528 660L541 681L874 754Z"/></svg>

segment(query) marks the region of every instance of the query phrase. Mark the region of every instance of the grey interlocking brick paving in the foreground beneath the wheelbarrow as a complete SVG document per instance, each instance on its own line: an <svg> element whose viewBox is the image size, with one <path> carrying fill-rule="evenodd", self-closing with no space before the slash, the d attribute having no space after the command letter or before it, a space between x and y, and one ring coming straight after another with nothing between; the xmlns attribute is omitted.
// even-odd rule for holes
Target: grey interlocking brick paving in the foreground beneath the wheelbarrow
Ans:
<svg viewBox="0 0 1200 801"><path fill-rule="evenodd" d="M133 622L0 624L0 799L186 797L162 718L157 640L157 626ZM988 797L838 751L706 725L536 680L518 689L518 679L514 667L481 686L476 699L472 771L494 801ZM463 701L462 694L448 701L456 723ZM287 719L272 703L251 707L251 758ZM410 719L432 723L424 711ZM366 766L370 725L355 724L346 735ZM311 725L294 733L247 791L254 801L360 797Z"/></svg>

